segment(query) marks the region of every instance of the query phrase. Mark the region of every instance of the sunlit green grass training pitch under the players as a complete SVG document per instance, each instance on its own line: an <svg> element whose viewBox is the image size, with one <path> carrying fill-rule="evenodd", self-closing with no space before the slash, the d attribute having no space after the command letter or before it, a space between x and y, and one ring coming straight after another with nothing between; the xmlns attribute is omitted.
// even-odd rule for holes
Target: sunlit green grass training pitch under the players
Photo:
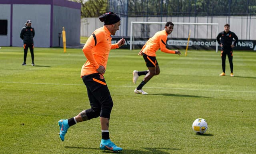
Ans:
<svg viewBox="0 0 256 154"><path fill-rule="evenodd" d="M255 153L256 52L234 51L234 77L219 77L220 53L190 51L188 56L157 52L161 73L134 94L132 71L146 70L138 50L109 55L106 82L114 107L110 138L124 154ZM32 67L22 47L0 49L0 153L102 153L100 120L78 123L65 141L58 120L90 108L80 69L82 49L35 48ZM192 130L205 118L208 130ZM106 153L106 151L104 151ZM110 152L111 153L111 152Z"/></svg>

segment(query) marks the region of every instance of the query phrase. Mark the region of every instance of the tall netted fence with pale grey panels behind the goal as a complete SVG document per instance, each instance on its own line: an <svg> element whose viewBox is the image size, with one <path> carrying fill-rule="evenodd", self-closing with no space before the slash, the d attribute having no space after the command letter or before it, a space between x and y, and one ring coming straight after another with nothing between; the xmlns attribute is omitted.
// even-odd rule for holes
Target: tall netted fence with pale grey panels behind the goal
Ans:
<svg viewBox="0 0 256 154"><path fill-rule="evenodd" d="M120 31L116 36L130 36L130 22L203 22L218 23L218 30L223 30L224 24L230 24L239 39L256 40L256 0L107 0L107 9L122 18ZM86 20L87 22L84 22ZM98 25L98 19L83 19L81 35L88 36ZM94 24L94 25L92 25ZM88 26L86 26L88 25ZM86 28L86 29L85 29ZM150 37L156 31L162 30L155 26L137 28L138 35ZM192 30L192 38L215 38L212 26L175 26L172 37L186 38L188 29Z"/></svg>

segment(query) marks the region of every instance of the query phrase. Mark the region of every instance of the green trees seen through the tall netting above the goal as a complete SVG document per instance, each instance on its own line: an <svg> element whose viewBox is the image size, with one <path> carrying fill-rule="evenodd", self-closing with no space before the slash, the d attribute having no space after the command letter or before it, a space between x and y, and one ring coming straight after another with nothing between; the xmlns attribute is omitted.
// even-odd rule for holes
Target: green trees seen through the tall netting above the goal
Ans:
<svg viewBox="0 0 256 154"><path fill-rule="evenodd" d="M256 15L255 0L108 0L108 2L111 11L128 16Z"/></svg>

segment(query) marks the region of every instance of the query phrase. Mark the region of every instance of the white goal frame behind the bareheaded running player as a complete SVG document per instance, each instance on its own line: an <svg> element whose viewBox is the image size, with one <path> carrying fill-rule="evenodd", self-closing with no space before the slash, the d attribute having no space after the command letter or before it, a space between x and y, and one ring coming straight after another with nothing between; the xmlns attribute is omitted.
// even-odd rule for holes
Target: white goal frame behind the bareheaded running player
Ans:
<svg viewBox="0 0 256 154"><path fill-rule="evenodd" d="M166 22L131 22L131 27L130 27L130 50L132 50L132 43L133 43L133 36L134 36L134 25L135 24L160 24L160 25L165 25ZM218 36L218 23L192 23L192 22L173 22L174 25L208 25L208 26L216 26L216 36ZM160 30L158 30L160 31ZM207 31L207 30L206 30ZM157 31L156 31L157 32ZM150 36L152 37L152 36ZM187 36L188 37L188 36ZM199 39L199 38L198 38ZM216 40L216 52L218 52L218 41Z"/></svg>

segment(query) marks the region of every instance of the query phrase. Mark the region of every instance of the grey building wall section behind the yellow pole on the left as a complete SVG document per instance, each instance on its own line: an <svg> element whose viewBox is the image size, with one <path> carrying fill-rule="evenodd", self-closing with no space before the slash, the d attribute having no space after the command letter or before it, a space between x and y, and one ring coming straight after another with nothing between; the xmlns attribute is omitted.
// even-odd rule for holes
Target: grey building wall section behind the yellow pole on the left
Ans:
<svg viewBox="0 0 256 154"><path fill-rule="evenodd" d="M52 46L56 47L59 43L58 33L62 33L62 27L66 31L66 44L80 44L80 10L61 6L53 7L53 30L52 30ZM60 46L63 46L62 38L60 38Z"/></svg>

